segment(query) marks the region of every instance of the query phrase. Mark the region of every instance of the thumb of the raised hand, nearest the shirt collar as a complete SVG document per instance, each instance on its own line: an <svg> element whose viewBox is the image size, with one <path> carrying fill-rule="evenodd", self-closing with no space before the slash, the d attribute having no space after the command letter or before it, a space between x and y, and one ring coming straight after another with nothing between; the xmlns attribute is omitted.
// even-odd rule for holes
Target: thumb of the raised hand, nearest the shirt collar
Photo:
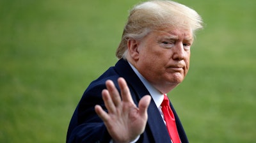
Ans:
<svg viewBox="0 0 256 143"><path fill-rule="evenodd" d="M139 114L141 117L147 117L147 109L151 101L151 96L145 95L139 102Z"/></svg>

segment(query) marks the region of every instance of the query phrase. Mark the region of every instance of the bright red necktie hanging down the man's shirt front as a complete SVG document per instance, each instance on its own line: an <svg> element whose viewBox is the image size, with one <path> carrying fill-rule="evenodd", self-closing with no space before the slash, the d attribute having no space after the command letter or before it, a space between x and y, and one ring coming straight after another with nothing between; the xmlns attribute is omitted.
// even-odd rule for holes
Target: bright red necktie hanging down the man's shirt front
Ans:
<svg viewBox="0 0 256 143"><path fill-rule="evenodd" d="M166 122L166 128L173 143L180 142L179 133L177 131L175 117L170 107L170 102L166 94L164 94L164 100L161 103L162 112L164 114L164 121Z"/></svg>

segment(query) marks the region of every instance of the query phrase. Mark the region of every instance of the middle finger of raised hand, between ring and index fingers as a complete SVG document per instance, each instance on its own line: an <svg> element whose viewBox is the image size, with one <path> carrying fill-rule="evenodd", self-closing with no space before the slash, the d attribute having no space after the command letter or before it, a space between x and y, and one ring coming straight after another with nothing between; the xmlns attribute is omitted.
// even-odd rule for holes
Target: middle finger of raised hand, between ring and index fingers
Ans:
<svg viewBox="0 0 256 143"><path fill-rule="evenodd" d="M121 98L118 90L115 87L115 84L111 80L106 81L106 87L109 91L111 99L116 107L118 107L121 103Z"/></svg>

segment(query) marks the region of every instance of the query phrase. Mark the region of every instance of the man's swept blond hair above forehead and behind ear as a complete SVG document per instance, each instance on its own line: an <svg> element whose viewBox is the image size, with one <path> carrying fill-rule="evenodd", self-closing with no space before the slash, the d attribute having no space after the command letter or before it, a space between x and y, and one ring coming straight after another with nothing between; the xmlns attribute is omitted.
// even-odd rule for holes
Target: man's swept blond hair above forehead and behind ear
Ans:
<svg viewBox="0 0 256 143"><path fill-rule="evenodd" d="M150 31L170 26L191 29L193 33L203 27L202 18L195 10L174 1L147 1L134 6L116 49L116 57L125 59L127 40L141 40Z"/></svg>

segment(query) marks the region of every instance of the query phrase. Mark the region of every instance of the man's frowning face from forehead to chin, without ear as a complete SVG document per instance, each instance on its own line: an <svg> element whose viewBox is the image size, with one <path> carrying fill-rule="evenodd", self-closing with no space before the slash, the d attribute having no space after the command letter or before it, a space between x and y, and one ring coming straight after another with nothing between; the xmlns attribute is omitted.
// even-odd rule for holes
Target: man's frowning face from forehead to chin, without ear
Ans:
<svg viewBox="0 0 256 143"><path fill-rule="evenodd" d="M190 30L152 31L138 43L136 68L161 93L177 86L189 70Z"/></svg>

